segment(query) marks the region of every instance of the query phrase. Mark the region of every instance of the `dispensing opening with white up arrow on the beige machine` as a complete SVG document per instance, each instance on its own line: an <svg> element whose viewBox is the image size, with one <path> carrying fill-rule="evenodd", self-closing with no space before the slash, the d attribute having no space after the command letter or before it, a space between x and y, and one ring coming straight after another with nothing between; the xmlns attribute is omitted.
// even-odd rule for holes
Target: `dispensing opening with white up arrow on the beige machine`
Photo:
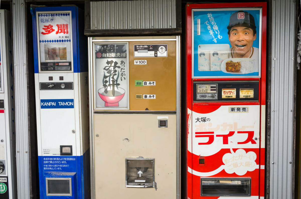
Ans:
<svg viewBox="0 0 301 199"><path fill-rule="evenodd" d="M126 187L155 187L153 158L126 158Z"/></svg>

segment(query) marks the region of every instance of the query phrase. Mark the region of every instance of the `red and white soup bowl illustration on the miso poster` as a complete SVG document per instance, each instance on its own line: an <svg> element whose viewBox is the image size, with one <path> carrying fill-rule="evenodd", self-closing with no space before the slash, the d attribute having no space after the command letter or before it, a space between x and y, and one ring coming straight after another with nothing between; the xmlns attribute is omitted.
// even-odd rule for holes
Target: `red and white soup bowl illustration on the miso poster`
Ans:
<svg viewBox="0 0 301 199"><path fill-rule="evenodd" d="M104 92L105 88L102 87L98 90L98 94L102 100L104 100L104 106L119 106L119 101L123 98L124 93L126 92L123 88L120 87L108 87L107 93Z"/></svg>

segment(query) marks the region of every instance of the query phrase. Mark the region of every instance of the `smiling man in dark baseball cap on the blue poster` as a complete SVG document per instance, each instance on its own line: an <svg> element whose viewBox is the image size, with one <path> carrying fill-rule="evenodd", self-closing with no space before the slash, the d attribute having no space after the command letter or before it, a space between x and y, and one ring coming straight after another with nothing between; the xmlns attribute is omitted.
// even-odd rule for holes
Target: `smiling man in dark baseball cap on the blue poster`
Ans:
<svg viewBox="0 0 301 199"><path fill-rule="evenodd" d="M258 60L259 49L253 47L256 40L254 17L244 11L234 12L229 21L228 37L231 44L231 58L254 58Z"/></svg>

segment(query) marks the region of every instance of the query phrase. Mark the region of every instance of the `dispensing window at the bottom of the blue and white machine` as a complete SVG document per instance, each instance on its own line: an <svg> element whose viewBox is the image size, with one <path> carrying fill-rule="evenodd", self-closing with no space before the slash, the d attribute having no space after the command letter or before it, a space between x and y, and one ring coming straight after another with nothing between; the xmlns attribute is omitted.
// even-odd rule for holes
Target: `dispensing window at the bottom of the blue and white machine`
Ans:
<svg viewBox="0 0 301 199"><path fill-rule="evenodd" d="M72 196L71 178L46 178L47 196Z"/></svg>

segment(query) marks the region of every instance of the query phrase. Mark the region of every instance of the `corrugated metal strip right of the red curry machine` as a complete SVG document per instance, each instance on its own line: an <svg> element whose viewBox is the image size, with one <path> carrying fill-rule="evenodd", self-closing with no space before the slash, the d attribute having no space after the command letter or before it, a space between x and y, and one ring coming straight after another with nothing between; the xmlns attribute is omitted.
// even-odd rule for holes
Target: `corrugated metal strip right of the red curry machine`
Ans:
<svg viewBox="0 0 301 199"><path fill-rule="evenodd" d="M292 198L294 0L272 1L270 198Z"/></svg>

